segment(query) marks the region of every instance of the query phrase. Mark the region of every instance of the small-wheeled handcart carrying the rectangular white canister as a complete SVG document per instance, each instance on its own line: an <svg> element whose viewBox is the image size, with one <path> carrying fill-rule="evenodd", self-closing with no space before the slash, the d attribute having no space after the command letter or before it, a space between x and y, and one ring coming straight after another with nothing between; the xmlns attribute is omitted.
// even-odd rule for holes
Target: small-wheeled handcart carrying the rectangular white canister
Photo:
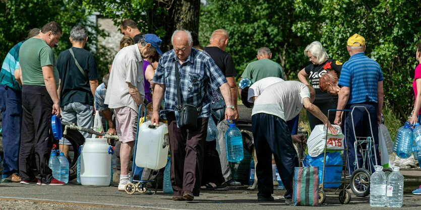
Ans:
<svg viewBox="0 0 421 210"><path fill-rule="evenodd" d="M127 194L133 194L136 191L140 193L148 192L149 194L152 194L151 190L148 187L148 184L155 182L155 177L159 174L159 170L141 168L141 167L136 166L136 163L135 163L138 138L139 138L139 127L140 127L140 124L142 123L140 121L141 119L140 115L142 113L142 104L139 106L138 113L139 114L138 114L138 119L137 119L136 139L135 139L135 146L134 146L135 150L133 154L133 167L132 167L133 176L131 177L130 182L126 184L124 189ZM146 106L145 106L143 119L144 119L143 122L145 122L146 121ZM155 184L154 194L156 194L157 187L158 187L158 183Z"/></svg>

